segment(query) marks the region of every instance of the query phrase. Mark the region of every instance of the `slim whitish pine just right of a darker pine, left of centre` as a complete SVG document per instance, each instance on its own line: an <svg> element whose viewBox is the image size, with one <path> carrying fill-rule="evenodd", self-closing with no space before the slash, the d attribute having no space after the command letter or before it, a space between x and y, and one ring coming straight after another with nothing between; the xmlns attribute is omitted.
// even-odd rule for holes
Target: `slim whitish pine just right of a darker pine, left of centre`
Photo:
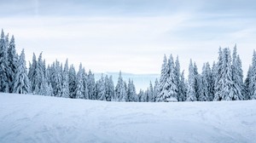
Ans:
<svg viewBox="0 0 256 143"><path fill-rule="evenodd" d="M77 80L76 80L76 98L78 99L84 99L84 82L83 82L83 67L80 63L79 66L79 72L77 74Z"/></svg>

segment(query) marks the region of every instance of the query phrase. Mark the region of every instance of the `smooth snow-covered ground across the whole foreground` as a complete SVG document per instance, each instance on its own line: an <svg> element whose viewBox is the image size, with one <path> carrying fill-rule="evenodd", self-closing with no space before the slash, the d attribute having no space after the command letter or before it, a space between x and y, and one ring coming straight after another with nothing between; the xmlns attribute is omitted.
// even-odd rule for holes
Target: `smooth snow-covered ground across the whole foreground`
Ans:
<svg viewBox="0 0 256 143"><path fill-rule="evenodd" d="M0 142L255 142L256 100L124 103L0 94Z"/></svg>

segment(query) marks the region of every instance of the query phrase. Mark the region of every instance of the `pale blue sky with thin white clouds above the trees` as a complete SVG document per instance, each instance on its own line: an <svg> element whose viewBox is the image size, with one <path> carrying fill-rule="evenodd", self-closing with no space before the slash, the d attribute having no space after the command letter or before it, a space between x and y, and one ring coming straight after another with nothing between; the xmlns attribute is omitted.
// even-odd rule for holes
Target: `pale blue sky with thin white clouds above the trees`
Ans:
<svg viewBox="0 0 256 143"><path fill-rule="evenodd" d="M218 48L237 45L247 72L256 49L256 1L1 0L0 28L26 60L81 62L88 72L160 73L163 56L199 71Z"/></svg>

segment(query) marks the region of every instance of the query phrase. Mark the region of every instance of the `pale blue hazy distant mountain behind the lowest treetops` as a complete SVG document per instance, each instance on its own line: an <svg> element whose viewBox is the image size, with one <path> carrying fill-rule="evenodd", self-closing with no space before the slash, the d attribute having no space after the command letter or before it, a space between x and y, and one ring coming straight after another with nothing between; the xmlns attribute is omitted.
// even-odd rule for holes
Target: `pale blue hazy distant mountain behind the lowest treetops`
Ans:
<svg viewBox="0 0 256 143"><path fill-rule="evenodd" d="M112 76L113 77L113 83L116 85L118 78L119 78L119 72L104 72L104 75ZM96 80L100 79L102 76L102 73L95 73ZM137 92L140 89L147 89L149 86L149 82L151 81L154 85L154 81L156 78L159 78L159 74L133 74L133 73L126 73L122 72L122 77L125 80L126 83L128 83L129 78L133 80L133 83L136 86Z"/></svg>

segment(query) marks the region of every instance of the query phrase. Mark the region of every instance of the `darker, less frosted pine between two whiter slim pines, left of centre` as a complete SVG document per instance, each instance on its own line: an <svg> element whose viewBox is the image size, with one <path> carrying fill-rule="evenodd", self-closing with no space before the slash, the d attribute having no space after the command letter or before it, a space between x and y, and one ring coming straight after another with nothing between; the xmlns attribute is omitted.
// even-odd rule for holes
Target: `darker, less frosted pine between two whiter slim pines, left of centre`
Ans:
<svg viewBox="0 0 256 143"><path fill-rule="evenodd" d="M69 87L69 97L76 98L76 84L77 76L73 65L70 66L68 72L68 87Z"/></svg>

